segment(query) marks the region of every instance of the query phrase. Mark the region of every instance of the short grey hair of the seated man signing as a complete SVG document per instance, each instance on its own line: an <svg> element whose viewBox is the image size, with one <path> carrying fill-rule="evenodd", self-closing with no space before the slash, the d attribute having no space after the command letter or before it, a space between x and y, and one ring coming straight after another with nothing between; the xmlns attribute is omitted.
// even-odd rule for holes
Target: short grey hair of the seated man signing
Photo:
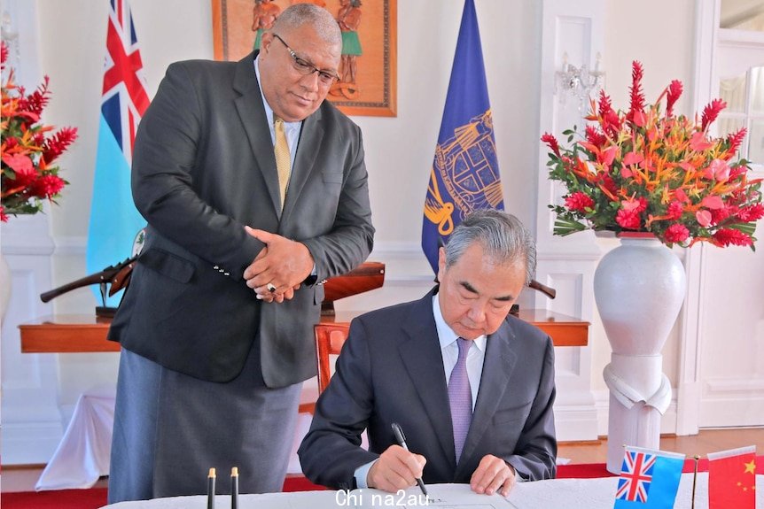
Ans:
<svg viewBox="0 0 764 509"><path fill-rule="evenodd" d="M455 264L464 251L479 243L484 255L498 265L526 266L526 284L536 272L536 243L523 223L507 212L481 209L468 215L448 238L446 268Z"/></svg>

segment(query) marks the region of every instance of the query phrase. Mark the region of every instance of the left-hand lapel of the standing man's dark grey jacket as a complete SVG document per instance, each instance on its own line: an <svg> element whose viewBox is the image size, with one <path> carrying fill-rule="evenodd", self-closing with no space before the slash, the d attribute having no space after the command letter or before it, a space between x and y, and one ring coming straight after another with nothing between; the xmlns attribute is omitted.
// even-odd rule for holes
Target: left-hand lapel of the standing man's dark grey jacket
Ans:
<svg viewBox="0 0 764 509"><path fill-rule="evenodd" d="M236 99L236 110L249 140L254 157L254 171L261 173L268 188L271 204L277 215L281 214L281 197L278 190L276 156L271 143L268 117L262 105L262 95L254 74L254 57L251 53L238 61L233 88L241 94Z"/></svg>

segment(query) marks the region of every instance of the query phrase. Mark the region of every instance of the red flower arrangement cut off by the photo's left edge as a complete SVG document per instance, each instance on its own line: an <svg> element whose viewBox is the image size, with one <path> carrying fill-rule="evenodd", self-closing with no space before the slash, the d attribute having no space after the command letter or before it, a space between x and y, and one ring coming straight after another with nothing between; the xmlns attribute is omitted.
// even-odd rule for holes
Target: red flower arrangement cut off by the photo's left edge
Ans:
<svg viewBox="0 0 764 509"><path fill-rule="evenodd" d="M5 69L8 49L0 48L0 62ZM77 139L76 127L62 127L53 134L52 126L40 122L51 92L48 77L31 94L13 82L13 70L2 84L2 195L0 220L8 215L34 214L43 210L43 200L55 203L61 189L69 182L58 176L52 163Z"/></svg>

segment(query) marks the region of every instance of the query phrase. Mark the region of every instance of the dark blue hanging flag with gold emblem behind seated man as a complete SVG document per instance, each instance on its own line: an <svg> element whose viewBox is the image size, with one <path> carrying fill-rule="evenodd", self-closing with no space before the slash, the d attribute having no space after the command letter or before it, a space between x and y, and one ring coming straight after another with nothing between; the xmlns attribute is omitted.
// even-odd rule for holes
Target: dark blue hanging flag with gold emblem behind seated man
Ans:
<svg viewBox="0 0 764 509"><path fill-rule="evenodd" d="M469 212L486 208L503 209L503 191L478 19L466 0L422 224L422 250L436 274L440 243Z"/></svg>

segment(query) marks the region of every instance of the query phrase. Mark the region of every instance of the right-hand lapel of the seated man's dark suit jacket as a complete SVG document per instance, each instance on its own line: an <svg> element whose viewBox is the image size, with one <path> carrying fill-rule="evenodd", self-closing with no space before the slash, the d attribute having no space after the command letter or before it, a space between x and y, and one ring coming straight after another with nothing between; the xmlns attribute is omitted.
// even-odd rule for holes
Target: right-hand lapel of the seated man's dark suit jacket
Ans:
<svg viewBox="0 0 764 509"><path fill-rule="evenodd" d="M475 447L486 433L488 424L493 420L496 407L502 401L511 372L518 360L513 347L514 337L514 331L506 322L494 334L488 336L478 401L475 405L475 413L472 414L470 431L464 442L462 459L472 456ZM459 461L459 467L464 467L465 463L464 460ZM460 474L459 467L456 469L457 476Z"/></svg>

